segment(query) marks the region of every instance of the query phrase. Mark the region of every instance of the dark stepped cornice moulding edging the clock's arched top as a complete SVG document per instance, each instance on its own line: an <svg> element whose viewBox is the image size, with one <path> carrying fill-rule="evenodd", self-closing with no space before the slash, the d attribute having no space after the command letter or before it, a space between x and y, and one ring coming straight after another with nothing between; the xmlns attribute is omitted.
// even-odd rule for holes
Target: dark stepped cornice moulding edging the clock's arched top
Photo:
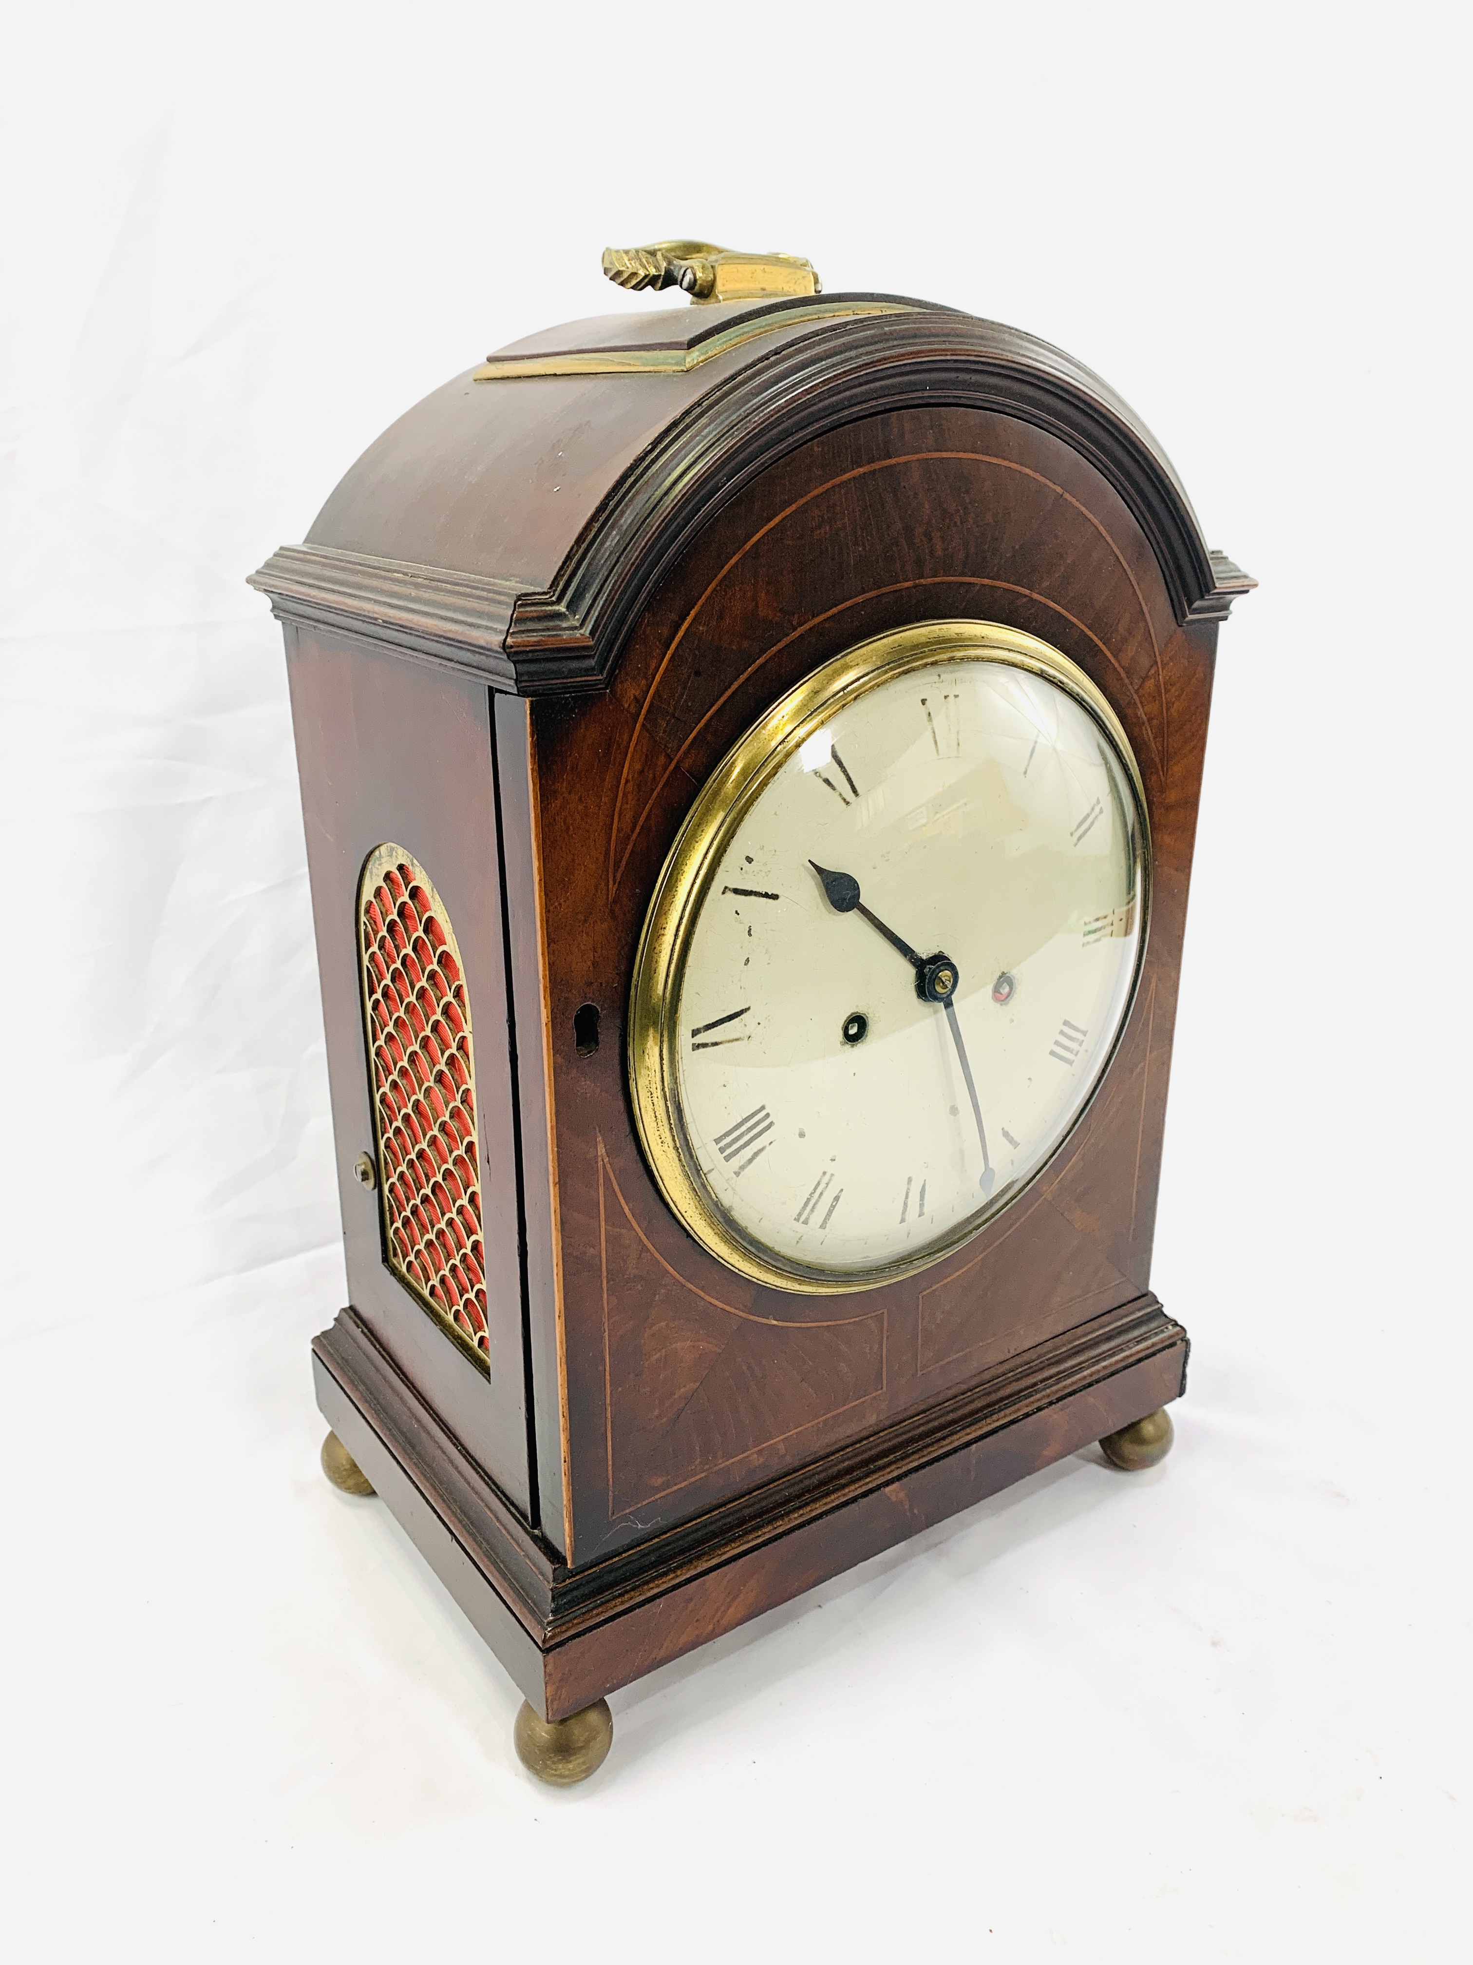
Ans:
<svg viewBox="0 0 1473 1965"><path fill-rule="evenodd" d="M617 385L650 389L660 377ZM839 424L925 405L1021 417L1086 458L1145 533L1178 621L1222 621L1255 586L1204 546L1165 452L1098 375L1013 328L933 310L831 320L754 354L632 460L546 588L338 546L283 546L249 584L285 619L363 635L497 690L605 690L660 576L727 499Z"/></svg>

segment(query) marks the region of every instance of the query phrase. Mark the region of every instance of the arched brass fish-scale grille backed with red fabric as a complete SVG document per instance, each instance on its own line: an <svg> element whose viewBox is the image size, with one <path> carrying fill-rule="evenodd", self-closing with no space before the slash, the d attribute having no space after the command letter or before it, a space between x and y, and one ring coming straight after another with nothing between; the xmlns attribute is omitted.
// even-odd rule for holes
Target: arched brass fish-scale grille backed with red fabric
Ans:
<svg viewBox="0 0 1473 1965"><path fill-rule="evenodd" d="M471 1004L450 916L403 847L363 867L359 959L385 1260L489 1370Z"/></svg>

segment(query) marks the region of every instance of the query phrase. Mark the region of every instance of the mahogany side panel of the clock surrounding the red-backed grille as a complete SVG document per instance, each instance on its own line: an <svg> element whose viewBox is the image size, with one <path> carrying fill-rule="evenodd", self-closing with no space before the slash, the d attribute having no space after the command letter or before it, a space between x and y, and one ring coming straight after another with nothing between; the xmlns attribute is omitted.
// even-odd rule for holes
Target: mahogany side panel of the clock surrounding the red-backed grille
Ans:
<svg viewBox="0 0 1473 1965"><path fill-rule="evenodd" d="M485 690L401 662L371 645L287 633L306 865L312 880L332 1132L348 1289L359 1315L530 1515L526 1368L518 1271L517 1114L507 1032L507 961ZM465 963L475 1043L481 1218L487 1252L489 1381L383 1262L379 1195L354 1175L373 1150L357 884L393 841L426 869Z"/></svg>

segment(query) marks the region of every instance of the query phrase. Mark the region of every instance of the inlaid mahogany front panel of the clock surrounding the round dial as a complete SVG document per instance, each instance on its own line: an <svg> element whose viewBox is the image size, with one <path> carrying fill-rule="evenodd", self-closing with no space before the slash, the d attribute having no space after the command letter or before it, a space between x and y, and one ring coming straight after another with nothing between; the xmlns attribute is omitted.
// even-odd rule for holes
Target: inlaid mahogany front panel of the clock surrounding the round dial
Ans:
<svg viewBox="0 0 1473 1965"><path fill-rule="evenodd" d="M1155 912L1104 1089L1043 1179L925 1275L805 1299L736 1277L670 1216L630 1130L623 1020L660 865L768 705L866 635L937 617L1041 635L1141 762ZM733 499L668 574L613 688L536 702L573 1562L945 1397L1139 1297L1212 690L1119 493L1061 438L982 411L846 424ZM579 1004L603 1041L579 1055Z"/></svg>

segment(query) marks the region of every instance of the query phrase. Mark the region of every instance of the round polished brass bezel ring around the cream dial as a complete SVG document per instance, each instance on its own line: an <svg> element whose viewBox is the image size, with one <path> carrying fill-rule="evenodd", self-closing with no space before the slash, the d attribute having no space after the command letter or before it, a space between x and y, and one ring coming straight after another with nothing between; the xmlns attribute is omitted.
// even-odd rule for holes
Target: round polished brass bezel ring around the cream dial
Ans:
<svg viewBox="0 0 1473 1965"><path fill-rule="evenodd" d="M882 682L892 682L913 668L935 662L960 662L984 656L1025 668L1066 690L1100 725L1135 792L1139 825L1139 888L1141 939L1135 953L1125 1012L1119 1018L1108 1055L1090 1083L1072 1124L1059 1136L1053 1151L1033 1169L1027 1181L994 1195L992 1205L970 1216L953 1236L933 1242L923 1254L876 1269L831 1271L801 1269L780 1263L770 1250L748 1242L725 1214L701 1177L680 1114L678 1045L680 1032L668 1008L680 1000L691 933L705 904L721 855L788 758L839 709L866 696ZM1078 1128L1084 1112L1104 1083L1129 1022L1141 981L1141 963L1151 926L1151 827L1145 784L1131 743L1104 692L1059 648L1035 635L1002 627L996 621L923 621L915 627L892 629L848 648L835 660L815 668L811 676L790 690L760 717L727 753L695 798L685 823L660 869L654 886L628 992L627 1067L628 1096L634 1126L656 1185L682 1226L717 1262L772 1289L805 1297L854 1295L880 1289L886 1283L917 1275L970 1242L990 1220L1009 1207L1055 1159Z"/></svg>

